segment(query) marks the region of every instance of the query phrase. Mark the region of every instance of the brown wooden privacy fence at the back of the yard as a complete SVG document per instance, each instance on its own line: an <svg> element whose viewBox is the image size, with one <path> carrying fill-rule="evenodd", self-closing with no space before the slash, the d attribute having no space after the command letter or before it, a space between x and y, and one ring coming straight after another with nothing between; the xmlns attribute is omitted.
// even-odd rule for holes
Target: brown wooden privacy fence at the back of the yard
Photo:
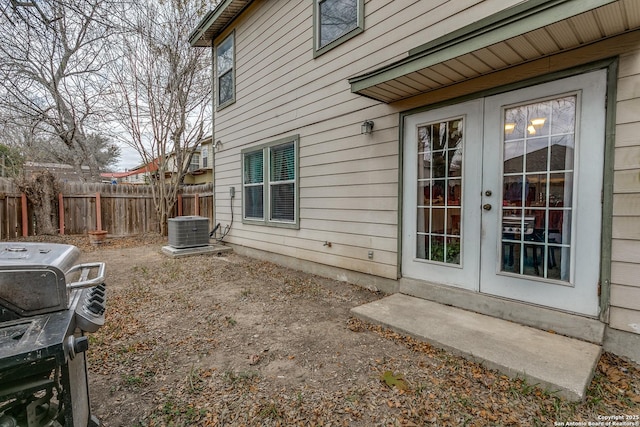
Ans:
<svg viewBox="0 0 640 427"><path fill-rule="evenodd" d="M169 217L200 215L213 223L213 184L184 186ZM148 185L62 184L53 223L60 234L106 230L112 236L157 233L160 224ZM33 207L13 181L0 179L0 240L38 234Z"/></svg>

